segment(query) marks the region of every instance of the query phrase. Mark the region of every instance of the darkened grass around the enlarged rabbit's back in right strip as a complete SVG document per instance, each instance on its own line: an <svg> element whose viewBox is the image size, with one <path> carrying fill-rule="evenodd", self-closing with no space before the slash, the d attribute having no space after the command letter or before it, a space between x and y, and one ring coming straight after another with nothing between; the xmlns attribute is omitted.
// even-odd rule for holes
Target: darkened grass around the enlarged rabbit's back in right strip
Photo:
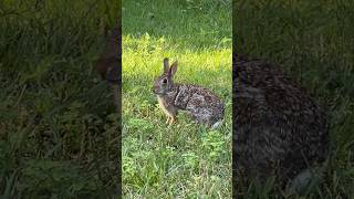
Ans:
<svg viewBox="0 0 354 199"><path fill-rule="evenodd" d="M353 1L233 3L236 51L283 66L330 115L331 164L324 184L306 198L354 197L353 9Z"/></svg>

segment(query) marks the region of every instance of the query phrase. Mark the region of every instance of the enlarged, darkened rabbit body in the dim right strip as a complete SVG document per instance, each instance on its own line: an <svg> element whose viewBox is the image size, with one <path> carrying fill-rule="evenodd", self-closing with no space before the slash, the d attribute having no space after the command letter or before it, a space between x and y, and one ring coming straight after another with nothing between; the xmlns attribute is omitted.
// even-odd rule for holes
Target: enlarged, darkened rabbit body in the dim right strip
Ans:
<svg viewBox="0 0 354 199"><path fill-rule="evenodd" d="M233 85L233 161L239 177L264 182L275 176L287 187L325 160L326 116L296 83L271 64L236 55Z"/></svg>

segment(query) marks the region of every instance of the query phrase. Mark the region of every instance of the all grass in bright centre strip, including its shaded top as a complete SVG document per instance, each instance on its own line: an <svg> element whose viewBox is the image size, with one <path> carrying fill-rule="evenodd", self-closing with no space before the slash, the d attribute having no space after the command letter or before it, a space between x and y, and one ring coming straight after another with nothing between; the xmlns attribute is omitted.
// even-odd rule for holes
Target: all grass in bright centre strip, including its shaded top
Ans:
<svg viewBox="0 0 354 199"><path fill-rule="evenodd" d="M231 197L231 2L123 2L123 193ZM176 82L210 88L226 119L210 132L186 115L168 127L152 92L163 59Z"/></svg>

